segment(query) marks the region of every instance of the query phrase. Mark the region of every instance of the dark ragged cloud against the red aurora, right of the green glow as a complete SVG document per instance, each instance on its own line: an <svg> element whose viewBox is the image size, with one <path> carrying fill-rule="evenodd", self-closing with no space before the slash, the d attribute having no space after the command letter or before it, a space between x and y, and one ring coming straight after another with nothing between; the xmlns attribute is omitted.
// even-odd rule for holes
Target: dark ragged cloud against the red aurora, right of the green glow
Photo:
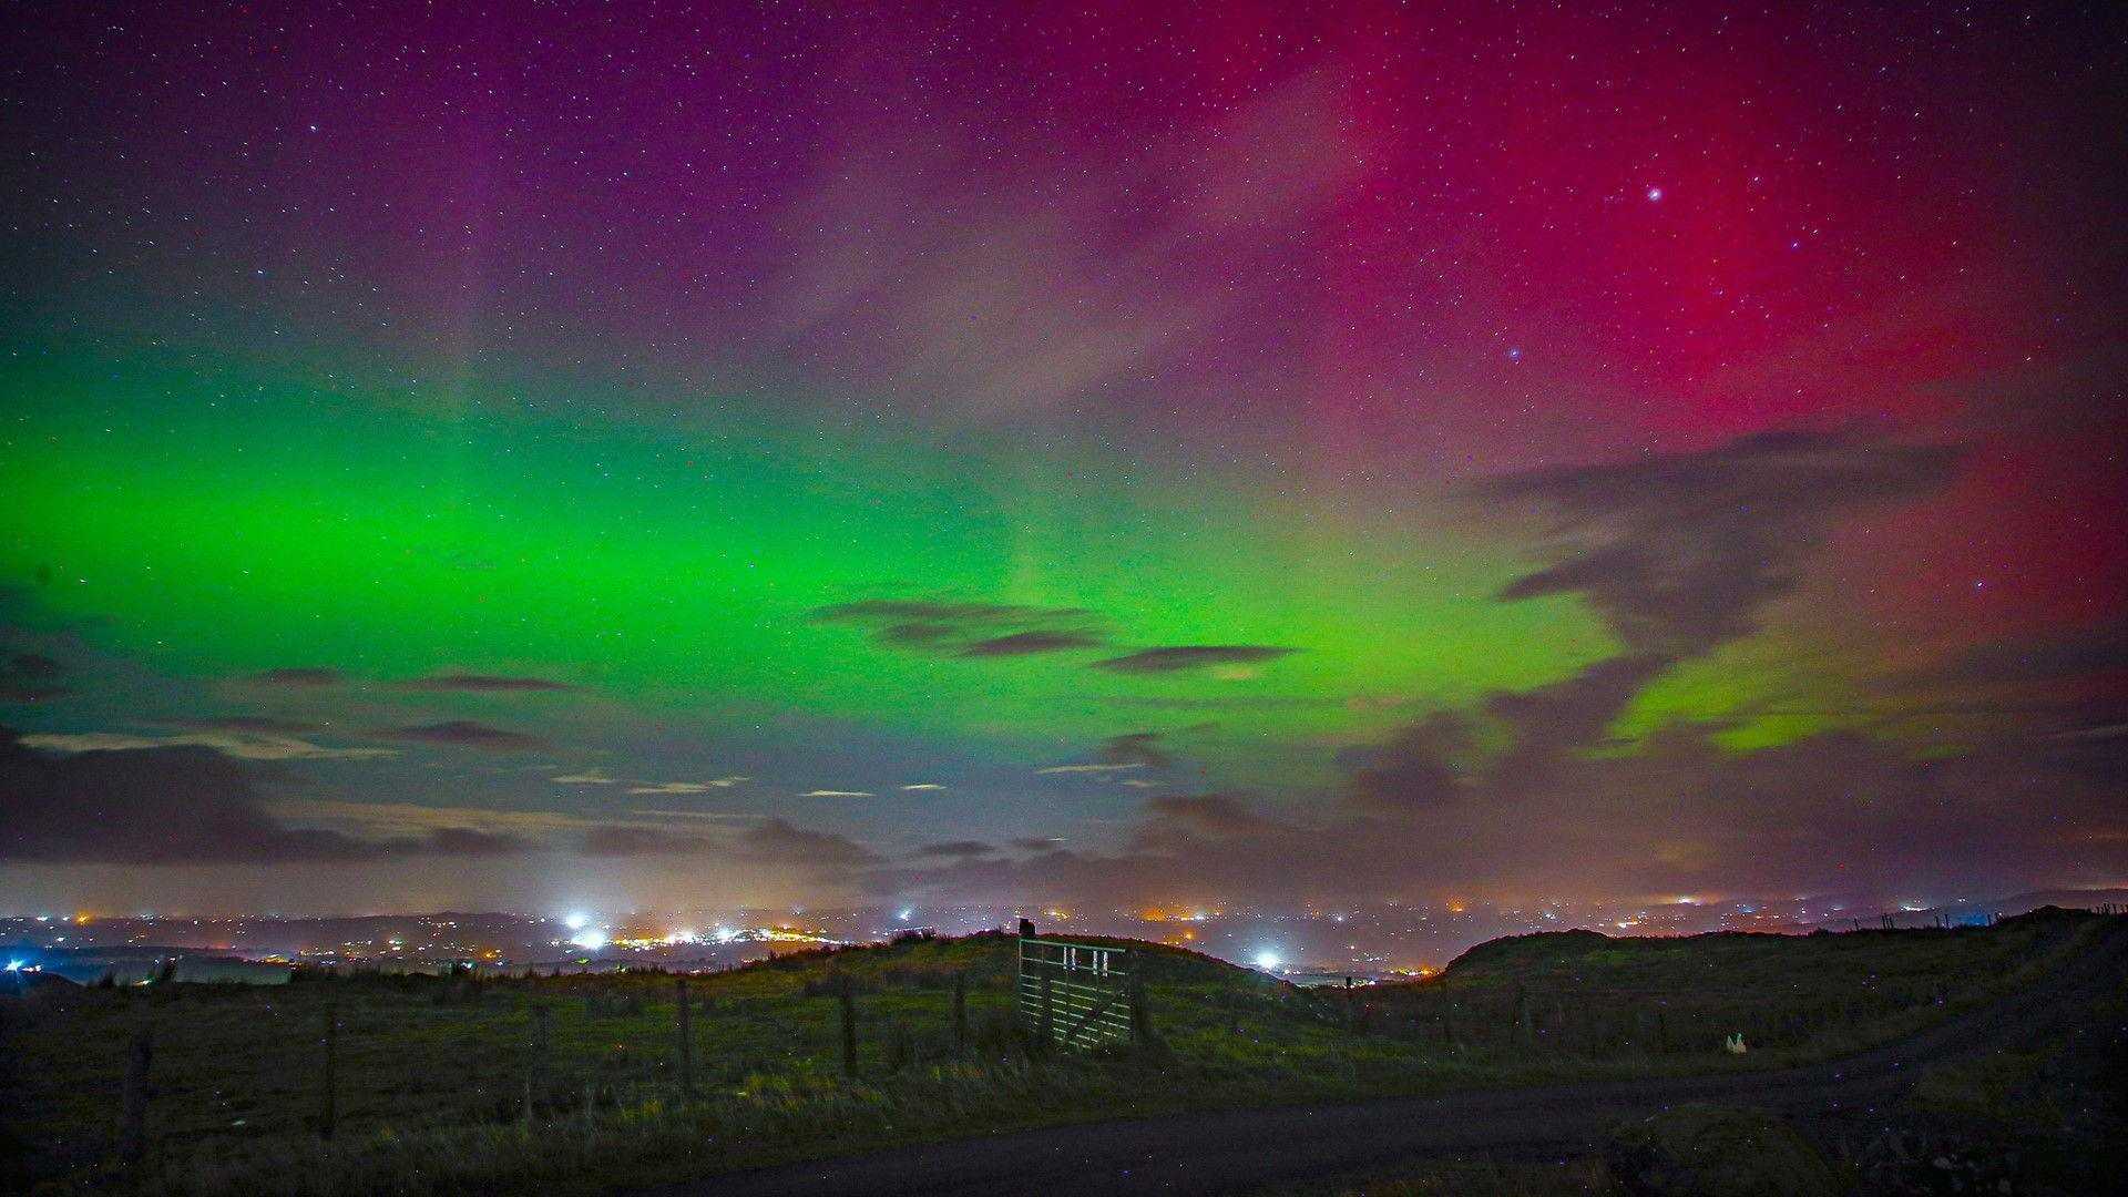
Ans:
<svg viewBox="0 0 2128 1197"><path fill-rule="evenodd" d="M1502 598L1585 594L1641 654L1690 656L1758 630L1824 535L1858 511L1943 488L1958 449L1764 432L1698 454L1504 475L1485 501L1532 503L1581 547Z"/></svg>

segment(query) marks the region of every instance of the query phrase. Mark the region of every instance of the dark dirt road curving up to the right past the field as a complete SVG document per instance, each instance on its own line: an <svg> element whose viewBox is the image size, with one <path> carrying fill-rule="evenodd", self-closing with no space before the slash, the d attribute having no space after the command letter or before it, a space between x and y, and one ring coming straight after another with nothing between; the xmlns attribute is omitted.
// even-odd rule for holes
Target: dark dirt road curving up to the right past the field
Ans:
<svg viewBox="0 0 2128 1197"><path fill-rule="evenodd" d="M1558 1159L1587 1150L1619 1118L1688 1101L1788 1116L1864 1114L1928 1065L2036 1042L2128 978L2128 927L1996 1005L1843 1061L1741 1076L1658 1078L1473 1091L1358 1105L1224 1110L1085 1122L741 1171L655 1197L802 1193L1230 1193L1413 1161L1483 1154Z"/></svg>

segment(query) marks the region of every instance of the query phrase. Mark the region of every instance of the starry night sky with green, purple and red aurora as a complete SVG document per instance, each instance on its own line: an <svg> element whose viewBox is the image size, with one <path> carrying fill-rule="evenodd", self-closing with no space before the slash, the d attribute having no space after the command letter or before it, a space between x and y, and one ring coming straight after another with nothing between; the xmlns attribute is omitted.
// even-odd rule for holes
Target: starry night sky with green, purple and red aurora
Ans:
<svg viewBox="0 0 2128 1197"><path fill-rule="evenodd" d="M0 909L2128 882L2094 6L11 6Z"/></svg>

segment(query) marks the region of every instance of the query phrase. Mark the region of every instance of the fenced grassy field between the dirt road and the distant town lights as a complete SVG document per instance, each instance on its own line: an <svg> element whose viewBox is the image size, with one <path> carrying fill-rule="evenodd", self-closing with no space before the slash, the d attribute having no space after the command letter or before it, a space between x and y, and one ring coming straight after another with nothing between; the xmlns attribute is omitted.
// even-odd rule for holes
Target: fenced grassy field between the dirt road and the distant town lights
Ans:
<svg viewBox="0 0 2128 1197"><path fill-rule="evenodd" d="M2056 914L1800 939L1543 935L1353 997L1145 946L1158 1042L1109 1054L1030 1050L1009 1005L1009 937L787 956L689 978L692 1101L677 980L658 973L45 990L0 1003L0 1054L23 1144L13 1180L36 1188L592 1193L1060 1120L1822 1059L1985 1001L2096 924ZM955 975L968 993L960 1044ZM843 978L860 1014L851 1073ZM143 1029L149 1148L128 1169L115 1129ZM1739 1031L1745 1056L1722 1050Z"/></svg>

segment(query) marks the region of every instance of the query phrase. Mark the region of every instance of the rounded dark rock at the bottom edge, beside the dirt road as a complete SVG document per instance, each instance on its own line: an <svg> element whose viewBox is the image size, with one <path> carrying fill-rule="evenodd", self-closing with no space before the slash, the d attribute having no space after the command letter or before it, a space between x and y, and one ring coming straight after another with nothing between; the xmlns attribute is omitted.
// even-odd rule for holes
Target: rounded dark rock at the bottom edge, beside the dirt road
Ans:
<svg viewBox="0 0 2128 1197"><path fill-rule="evenodd" d="M1679 1105L1615 1129L1605 1161L1634 1197L1834 1197L1839 1178L1788 1122Z"/></svg>

